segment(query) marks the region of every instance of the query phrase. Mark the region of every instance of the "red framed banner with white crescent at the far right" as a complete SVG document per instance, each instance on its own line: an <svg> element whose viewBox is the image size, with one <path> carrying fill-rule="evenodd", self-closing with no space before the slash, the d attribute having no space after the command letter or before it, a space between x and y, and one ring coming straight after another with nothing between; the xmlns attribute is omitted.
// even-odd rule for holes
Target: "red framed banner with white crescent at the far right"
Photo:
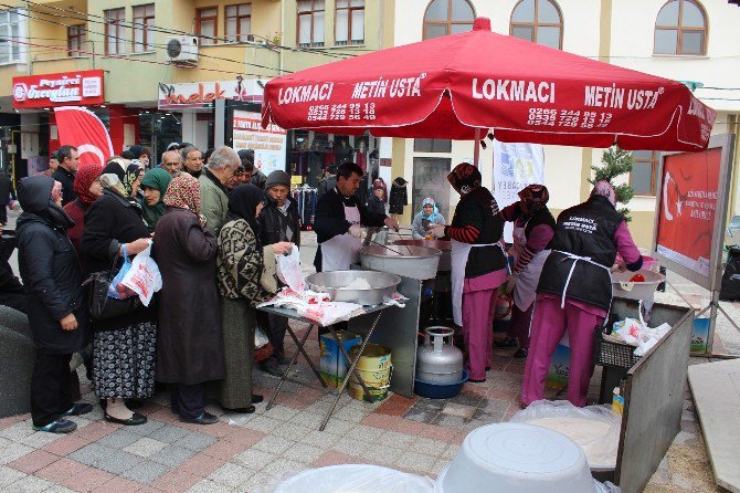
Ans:
<svg viewBox="0 0 740 493"><path fill-rule="evenodd" d="M656 251L709 276L721 149L665 157Z"/></svg>

